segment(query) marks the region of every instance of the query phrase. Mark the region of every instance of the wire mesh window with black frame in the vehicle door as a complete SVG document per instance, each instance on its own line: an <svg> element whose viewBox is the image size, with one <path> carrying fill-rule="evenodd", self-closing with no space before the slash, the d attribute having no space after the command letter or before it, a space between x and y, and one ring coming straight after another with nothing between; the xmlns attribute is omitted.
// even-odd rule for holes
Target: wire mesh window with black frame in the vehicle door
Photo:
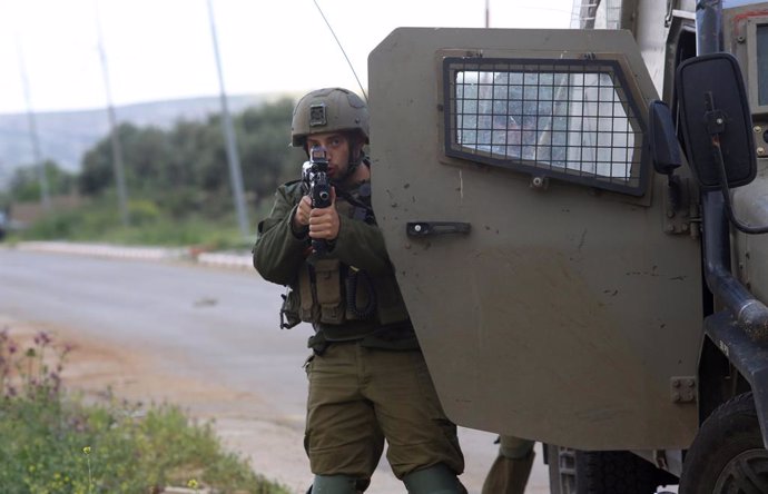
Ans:
<svg viewBox="0 0 768 494"><path fill-rule="evenodd" d="M643 126L614 61L445 59L449 156L643 194Z"/></svg>

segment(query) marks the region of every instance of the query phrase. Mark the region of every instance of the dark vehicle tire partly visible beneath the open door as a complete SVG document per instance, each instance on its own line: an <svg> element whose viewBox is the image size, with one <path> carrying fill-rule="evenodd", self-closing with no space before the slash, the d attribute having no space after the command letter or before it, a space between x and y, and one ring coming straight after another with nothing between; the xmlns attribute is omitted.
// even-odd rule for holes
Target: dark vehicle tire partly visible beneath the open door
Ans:
<svg viewBox="0 0 768 494"><path fill-rule="evenodd" d="M624 451L584 452L548 445L551 494L652 494L667 474Z"/></svg>

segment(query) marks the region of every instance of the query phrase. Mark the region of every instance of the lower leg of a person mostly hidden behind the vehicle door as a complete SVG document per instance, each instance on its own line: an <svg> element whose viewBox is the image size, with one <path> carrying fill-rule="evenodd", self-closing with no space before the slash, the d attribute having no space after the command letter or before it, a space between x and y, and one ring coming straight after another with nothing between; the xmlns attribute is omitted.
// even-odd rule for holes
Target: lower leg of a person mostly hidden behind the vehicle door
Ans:
<svg viewBox="0 0 768 494"><path fill-rule="evenodd" d="M523 494L533 466L533 441L499 437L499 455L485 476L482 494Z"/></svg>

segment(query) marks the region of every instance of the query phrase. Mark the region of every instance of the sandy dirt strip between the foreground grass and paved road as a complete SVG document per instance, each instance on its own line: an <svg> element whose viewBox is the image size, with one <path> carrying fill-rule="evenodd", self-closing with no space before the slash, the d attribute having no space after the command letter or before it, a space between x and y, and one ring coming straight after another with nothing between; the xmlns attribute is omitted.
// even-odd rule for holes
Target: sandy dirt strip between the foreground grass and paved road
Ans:
<svg viewBox="0 0 768 494"><path fill-rule="evenodd" d="M238 404L254 403L258 399L255 395L208 385L200 379L185 377L185 373L173 372L174 367L195 365L183 356L152 355L137 348L110 345L108 340L83 338L66 327L32 325L0 315L2 329L8 329L22 352L32 345L35 335L40 332L50 335L53 345L70 345L72 350L62 373L67 389L82 392L87 399L97 399L109 391L114 396L134 403L176 404L194 418L210 421L224 444L248 458L256 472L296 493L306 492L311 478L308 463L296 461L304 457L303 429L297 425L303 417L284 424L249 418L253 414Z"/></svg>

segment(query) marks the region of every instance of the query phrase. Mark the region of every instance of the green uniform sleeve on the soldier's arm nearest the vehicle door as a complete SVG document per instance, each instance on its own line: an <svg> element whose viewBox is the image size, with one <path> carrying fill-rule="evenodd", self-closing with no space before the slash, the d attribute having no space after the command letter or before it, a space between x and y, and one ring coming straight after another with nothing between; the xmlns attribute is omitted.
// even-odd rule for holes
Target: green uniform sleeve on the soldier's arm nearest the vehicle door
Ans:
<svg viewBox="0 0 768 494"><path fill-rule="evenodd" d="M384 236L376 225L352 218L339 218L339 221L338 236L333 249L335 257L372 275L392 270Z"/></svg>

